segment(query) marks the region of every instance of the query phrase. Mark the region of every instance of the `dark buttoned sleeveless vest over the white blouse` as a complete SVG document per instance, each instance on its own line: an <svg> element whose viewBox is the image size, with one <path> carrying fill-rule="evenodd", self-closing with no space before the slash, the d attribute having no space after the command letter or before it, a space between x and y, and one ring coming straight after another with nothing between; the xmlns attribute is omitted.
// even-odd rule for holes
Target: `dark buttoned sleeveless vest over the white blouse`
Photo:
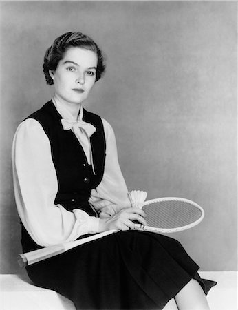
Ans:
<svg viewBox="0 0 238 310"><path fill-rule="evenodd" d="M106 143L101 118L84 109L83 121L96 127L96 132L90 138L95 175L91 165L87 164L85 152L72 130L63 129L62 116L57 112L52 101L45 103L40 110L28 118L39 121L50 141L58 180L58 193L54 203L63 205L68 211L78 208L83 209L90 216L96 216L88 200L91 189L96 188L102 180L105 167ZM24 237L26 231L23 230Z"/></svg>

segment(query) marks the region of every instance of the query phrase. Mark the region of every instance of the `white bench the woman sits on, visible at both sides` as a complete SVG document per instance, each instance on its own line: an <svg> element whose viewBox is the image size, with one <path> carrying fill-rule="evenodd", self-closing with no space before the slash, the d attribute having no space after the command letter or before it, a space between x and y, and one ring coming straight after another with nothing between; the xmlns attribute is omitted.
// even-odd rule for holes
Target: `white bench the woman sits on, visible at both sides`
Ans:
<svg viewBox="0 0 238 310"><path fill-rule="evenodd" d="M236 271L199 272L199 274L202 278L217 281L217 286L208 294L210 309L238 309ZM32 285L26 275L1 275L0 283L1 310L75 310L70 300L50 289Z"/></svg>

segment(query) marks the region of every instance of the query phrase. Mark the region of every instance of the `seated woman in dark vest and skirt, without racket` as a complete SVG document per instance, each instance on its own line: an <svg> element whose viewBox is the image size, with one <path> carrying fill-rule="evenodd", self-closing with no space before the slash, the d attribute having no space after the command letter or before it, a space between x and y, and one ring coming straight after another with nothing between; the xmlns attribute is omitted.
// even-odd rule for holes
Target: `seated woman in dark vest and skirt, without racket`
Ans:
<svg viewBox="0 0 238 310"><path fill-rule="evenodd" d="M162 309L173 298L179 309L209 309L204 293L215 282L199 278L180 243L133 230L133 220L146 218L127 198L113 130L82 106L105 71L98 45L67 32L47 49L43 71L54 96L19 125L13 143L23 251L120 232L30 265L30 279L76 309Z"/></svg>

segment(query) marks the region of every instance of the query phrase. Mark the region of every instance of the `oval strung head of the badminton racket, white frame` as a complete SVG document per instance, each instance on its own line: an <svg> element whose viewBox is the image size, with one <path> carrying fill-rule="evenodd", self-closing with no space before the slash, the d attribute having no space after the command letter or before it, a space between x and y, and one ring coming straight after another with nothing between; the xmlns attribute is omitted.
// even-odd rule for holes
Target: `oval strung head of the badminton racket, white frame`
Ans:
<svg viewBox="0 0 238 310"><path fill-rule="evenodd" d="M190 229L204 218L204 209L186 198L164 197L144 202L148 226L144 230L172 233Z"/></svg>

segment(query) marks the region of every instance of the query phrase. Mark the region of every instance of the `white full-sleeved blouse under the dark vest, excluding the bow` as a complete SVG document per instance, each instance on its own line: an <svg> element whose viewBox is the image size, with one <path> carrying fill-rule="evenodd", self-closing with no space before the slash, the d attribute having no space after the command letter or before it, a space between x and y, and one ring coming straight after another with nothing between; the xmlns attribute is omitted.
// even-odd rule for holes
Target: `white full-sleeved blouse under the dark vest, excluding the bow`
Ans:
<svg viewBox="0 0 238 310"><path fill-rule="evenodd" d="M59 103L54 101L54 105L63 118L72 118ZM83 117L82 111L80 118ZM102 123L106 138L105 172L101 183L91 191L89 203L97 211L113 215L131 203L118 163L113 129L105 119ZM76 137L80 141L80 135L76 134ZM85 154L90 154L90 150L85 149ZM87 158L90 163L90 156ZM17 210L25 229L38 245L47 247L98 232L100 218L89 216L80 209L70 212L62 205L54 205L58 192L56 170L50 141L38 121L28 118L17 128L12 165Z"/></svg>

